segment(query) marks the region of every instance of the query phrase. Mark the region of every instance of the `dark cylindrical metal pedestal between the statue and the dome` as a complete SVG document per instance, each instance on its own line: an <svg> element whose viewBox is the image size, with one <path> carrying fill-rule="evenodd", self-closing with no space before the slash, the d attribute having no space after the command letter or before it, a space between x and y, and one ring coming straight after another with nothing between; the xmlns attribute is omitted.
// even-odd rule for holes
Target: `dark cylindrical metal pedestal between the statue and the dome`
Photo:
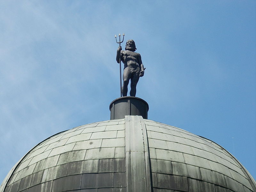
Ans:
<svg viewBox="0 0 256 192"><path fill-rule="evenodd" d="M138 115L148 119L148 103L138 97L120 97L109 105L110 120L123 119L126 115Z"/></svg>

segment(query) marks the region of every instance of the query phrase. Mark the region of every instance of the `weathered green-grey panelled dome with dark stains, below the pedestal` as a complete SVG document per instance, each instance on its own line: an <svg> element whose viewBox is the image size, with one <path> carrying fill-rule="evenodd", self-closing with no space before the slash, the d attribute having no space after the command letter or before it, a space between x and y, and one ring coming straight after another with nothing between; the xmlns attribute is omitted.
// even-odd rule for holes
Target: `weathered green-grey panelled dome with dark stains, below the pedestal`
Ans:
<svg viewBox="0 0 256 192"><path fill-rule="evenodd" d="M0 192L255 192L255 180L211 140L125 116L60 132L31 149Z"/></svg>

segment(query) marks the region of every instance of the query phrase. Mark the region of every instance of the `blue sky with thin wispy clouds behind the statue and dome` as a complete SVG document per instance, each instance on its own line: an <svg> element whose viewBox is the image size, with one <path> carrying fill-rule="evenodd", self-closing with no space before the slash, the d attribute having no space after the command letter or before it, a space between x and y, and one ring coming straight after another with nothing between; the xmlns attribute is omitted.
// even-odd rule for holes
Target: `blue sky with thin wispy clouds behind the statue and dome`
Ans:
<svg viewBox="0 0 256 192"><path fill-rule="evenodd" d="M255 19L256 1L1 1L0 180L42 140L110 118L119 33L147 68L148 119L218 143L255 179Z"/></svg>

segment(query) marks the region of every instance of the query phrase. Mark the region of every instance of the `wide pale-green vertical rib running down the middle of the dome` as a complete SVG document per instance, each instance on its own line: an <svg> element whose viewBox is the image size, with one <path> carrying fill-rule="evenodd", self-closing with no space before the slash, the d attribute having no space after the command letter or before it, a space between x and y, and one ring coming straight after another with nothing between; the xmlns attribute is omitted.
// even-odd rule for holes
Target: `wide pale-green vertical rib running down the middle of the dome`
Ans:
<svg viewBox="0 0 256 192"><path fill-rule="evenodd" d="M142 116L125 116L127 191L151 192L146 126Z"/></svg>

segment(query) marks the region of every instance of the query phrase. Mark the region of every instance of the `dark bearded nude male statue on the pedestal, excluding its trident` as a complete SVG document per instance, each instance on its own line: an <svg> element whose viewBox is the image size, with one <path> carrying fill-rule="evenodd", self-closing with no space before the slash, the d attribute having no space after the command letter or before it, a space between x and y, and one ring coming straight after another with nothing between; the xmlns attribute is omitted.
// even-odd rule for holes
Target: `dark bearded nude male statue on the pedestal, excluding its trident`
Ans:
<svg viewBox="0 0 256 192"><path fill-rule="evenodd" d="M125 45L125 51L122 51L122 47L119 46L116 51L116 61L117 63L120 60L124 63L124 72L123 72L123 86L122 86L122 95L127 96L128 84L131 79L131 91L130 96L136 95L136 85L139 81L139 78L144 75L144 68L140 53L136 53L136 46L133 40L128 40Z"/></svg>

